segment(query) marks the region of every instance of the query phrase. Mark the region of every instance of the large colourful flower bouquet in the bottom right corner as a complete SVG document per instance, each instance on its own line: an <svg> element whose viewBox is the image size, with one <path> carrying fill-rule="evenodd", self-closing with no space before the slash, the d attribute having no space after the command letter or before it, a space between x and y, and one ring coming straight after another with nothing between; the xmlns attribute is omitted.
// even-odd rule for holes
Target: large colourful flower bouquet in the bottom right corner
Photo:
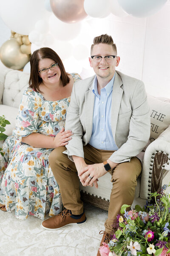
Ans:
<svg viewBox="0 0 170 256"><path fill-rule="evenodd" d="M170 195L165 194L167 185L161 192L151 193L154 204L146 204L142 209L126 211L129 205L121 207L113 224L116 232L111 241L99 248L101 256L170 256Z"/></svg>

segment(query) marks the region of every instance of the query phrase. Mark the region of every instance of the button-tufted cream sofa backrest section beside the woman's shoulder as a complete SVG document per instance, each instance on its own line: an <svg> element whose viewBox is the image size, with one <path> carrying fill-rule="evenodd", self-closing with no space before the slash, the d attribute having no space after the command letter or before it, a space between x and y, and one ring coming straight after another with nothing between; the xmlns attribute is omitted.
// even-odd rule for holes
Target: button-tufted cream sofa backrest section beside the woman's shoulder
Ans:
<svg viewBox="0 0 170 256"><path fill-rule="evenodd" d="M23 96L24 90L28 87L30 74L19 70L11 70L6 74L3 104L18 108Z"/></svg>

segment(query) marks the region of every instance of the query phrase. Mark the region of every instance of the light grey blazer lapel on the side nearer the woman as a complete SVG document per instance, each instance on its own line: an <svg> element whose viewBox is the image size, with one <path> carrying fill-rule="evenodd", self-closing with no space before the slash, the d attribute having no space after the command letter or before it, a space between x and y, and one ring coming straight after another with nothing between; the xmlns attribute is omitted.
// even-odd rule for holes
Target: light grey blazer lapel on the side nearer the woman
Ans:
<svg viewBox="0 0 170 256"><path fill-rule="evenodd" d="M87 142L91 138L92 128L93 128L93 113L94 113L94 100L95 95L92 91L93 81L89 84L89 90L85 92L85 129Z"/></svg>

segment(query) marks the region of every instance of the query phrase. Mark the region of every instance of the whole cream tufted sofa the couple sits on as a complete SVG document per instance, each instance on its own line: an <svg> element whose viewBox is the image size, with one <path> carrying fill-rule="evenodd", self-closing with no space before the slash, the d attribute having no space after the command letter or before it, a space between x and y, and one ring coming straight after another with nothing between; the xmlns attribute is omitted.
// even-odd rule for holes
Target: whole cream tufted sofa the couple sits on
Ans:
<svg viewBox="0 0 170 256"><path fill-rule="evenodd" d="M0 116L11 122L6 126L10 135L15 125L18 107L23 91L28 87L29 74L18 70L0 71ZM133 205L145 204L150 192L161 188L162 182L169 183L170 175L170 99L148 96L151 115L150 145L144 154L142 175L137 180ZM2 142L0 142L0 147ZM110 174L99 178L99 188L83 187L80 184L82 199L102 209L108 209L112 183Z"/></svg>

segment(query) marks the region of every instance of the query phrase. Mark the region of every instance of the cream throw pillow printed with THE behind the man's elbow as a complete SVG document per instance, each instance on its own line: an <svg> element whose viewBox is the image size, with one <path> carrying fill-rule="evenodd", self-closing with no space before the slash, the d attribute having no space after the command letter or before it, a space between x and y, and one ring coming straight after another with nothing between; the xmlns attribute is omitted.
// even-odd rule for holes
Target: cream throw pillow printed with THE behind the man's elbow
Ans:
<svg viewBox="0 0 170 256"><path fill-rule="evenodd" d="M147 95L150 105L150 142L154 141L170 125L170 101Z"/></svg>

